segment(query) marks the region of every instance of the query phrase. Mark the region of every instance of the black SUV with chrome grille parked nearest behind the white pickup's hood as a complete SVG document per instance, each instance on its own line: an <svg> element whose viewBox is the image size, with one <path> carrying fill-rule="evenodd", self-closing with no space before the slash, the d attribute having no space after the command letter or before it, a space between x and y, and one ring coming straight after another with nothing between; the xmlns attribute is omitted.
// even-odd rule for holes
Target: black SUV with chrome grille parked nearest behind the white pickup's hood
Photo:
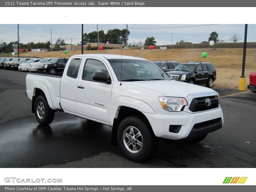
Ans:
<svg viewBox="0 0 256 192"><path fill-rule="evenodd" d="M205 84L211 88L216 80L216 69L208 62L181 63L173 71L167 73L171 80L187 82L191 84Z"/></svg>

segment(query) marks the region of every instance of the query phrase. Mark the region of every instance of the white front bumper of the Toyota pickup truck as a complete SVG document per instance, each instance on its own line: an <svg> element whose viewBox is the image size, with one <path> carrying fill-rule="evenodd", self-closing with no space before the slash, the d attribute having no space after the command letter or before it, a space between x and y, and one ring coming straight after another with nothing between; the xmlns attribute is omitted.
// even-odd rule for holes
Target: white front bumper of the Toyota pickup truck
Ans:
<svg viewBox="0 0 256 192"><path fill-rule="evenodd" d="M157 137L180 140L216 131L223 125L221 108L198 113L173 112L169 115L144 113ZM211 121L219 119L220 121ZM170 126L180 126L179 132L170 132Z"/></svg>

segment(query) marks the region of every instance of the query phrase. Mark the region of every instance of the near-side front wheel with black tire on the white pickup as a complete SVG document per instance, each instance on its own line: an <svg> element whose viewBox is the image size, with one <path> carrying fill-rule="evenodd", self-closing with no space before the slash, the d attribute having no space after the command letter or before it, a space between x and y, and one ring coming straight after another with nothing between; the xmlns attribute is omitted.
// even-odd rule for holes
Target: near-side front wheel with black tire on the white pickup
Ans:
<svg viewBox="0 0 256 192"><path fill-rule="evenodd" d="M134 130L134 134L132 134L131 128ZM130 139L125 133L131 136ZM135 137L137 133L140 133L141 136ZM135 162L146 161L152 157L156 152L158 143L151 126L142 118L136 116L126 117L121 121L117 129L117 142L124 155ZM127 143L130 144L127 145Z"/></svg>

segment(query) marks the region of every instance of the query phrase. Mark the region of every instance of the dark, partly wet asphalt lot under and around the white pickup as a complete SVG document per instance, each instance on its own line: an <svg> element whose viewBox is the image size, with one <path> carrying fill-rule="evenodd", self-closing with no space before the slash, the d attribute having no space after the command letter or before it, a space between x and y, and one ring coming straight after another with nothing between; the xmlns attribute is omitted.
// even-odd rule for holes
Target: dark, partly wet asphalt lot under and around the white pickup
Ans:
<svg viewBox="0 0 256 192"><path fill-rule="evenodd" d="M111 145L111 127L62 112L39 125L25 95L27 73L0 69L0 168L10 167L256 167L256 94L223 97L224 125L198 144L160 141L144 163ZM220 96L240 93L218 89ZM246 143L249 141L250 143Z"/></svg>

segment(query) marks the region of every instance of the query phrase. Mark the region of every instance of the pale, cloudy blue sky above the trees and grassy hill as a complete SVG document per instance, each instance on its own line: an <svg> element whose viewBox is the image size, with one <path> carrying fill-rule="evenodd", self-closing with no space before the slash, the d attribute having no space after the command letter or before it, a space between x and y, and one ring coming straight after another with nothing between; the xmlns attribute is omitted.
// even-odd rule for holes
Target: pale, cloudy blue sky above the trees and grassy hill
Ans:
<svg viewBox="0 0 256 192"><path fill-rule="evenodd" d="M198 26L204 25L204 26ZM189 27L186 27L189 26ZM194 27L191 27L194 26ZM126 24L99 24L99 30L108 30L113 28L124 29ZM81 25L80 24L20 24L20 42L45 42L50 40L49 29L52 29L52 44L61 37L66 43L77 44L81 41ZM183 39L187 42L200 43L207 41L211 32L216 31L219 39L225 42L229 40L232 32L241 34L241 40L244 41L244 24L128 24L130 31L128 43L133 44L145 41L147 36L154 36L157 45L175 44ZM84 24L84 33L96 31L96 24ZM45 37L41 37L45 36ZM48 38L47 38L48 37ZM11 42L17 41L17 25L16 24L0 24L0 41ZM256 25L248 25L247 42L256 42Z"/></svg>

